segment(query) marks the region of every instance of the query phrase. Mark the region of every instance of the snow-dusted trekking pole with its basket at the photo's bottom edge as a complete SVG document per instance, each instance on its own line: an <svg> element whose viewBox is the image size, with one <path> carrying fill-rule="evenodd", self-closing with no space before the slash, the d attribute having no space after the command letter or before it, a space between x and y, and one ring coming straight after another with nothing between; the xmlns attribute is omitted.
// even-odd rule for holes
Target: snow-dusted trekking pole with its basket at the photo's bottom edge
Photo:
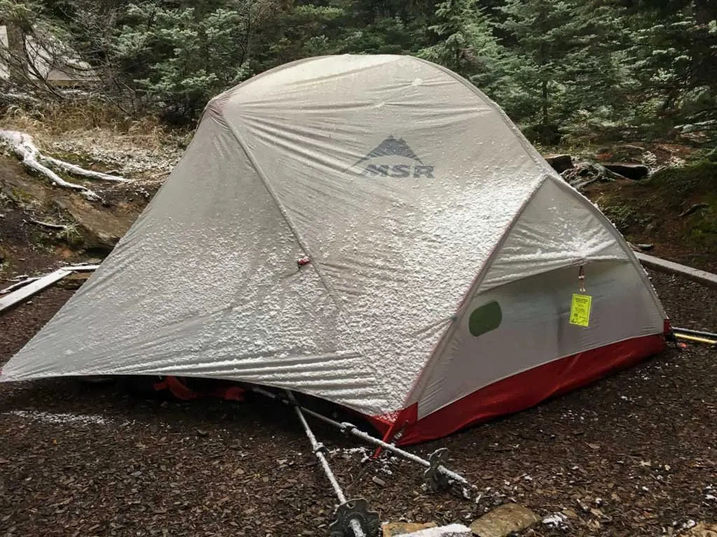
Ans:
<svg viewBox="0 0 717 537"><path fill-rule="evenodd" d="M311 427L309 427L308 422L306 422L306 418L301 411L301 407L296 403L293 394L287 390L287 395L290 402L294 405L296 415L298 416L301 425L304 427L309 442L311 442L313 453L316 455L319 463L321 463L323 472L331 482L333 491L336 493L336 497L338 498L340 504L336 508L336 520L328 526L329 535L331 537L378 537L379 526L381 526L379 513L369 511L369 503L364 500L364 498L346 501L346 496L343 494L343 490L341 490L341 485L338 484L336 476L333 475L333 472L331 471L331 466L328 465L326 455L323 454L326 451L326 448L321 442L316 440L316 437L314 436Z"/></svg>

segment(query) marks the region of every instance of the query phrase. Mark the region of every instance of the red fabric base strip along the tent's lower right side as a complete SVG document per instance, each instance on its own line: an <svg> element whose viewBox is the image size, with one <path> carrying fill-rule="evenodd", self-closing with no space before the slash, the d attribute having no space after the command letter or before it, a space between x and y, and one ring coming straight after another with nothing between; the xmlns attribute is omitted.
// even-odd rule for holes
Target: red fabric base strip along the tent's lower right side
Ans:
<svg viewBox="0 0 717 537"><path fill-rule="evenodd" d="M627 339L515 374L466 395L421 420L416 421L417 406L412 405L399 415L397 422L400 423L386 423L381 417L374 417L371 422L386 436L405 427L397 445L435 440L478 422L526 410L551 397L595 382L662 352L665 345L662 334Z"/></svg>

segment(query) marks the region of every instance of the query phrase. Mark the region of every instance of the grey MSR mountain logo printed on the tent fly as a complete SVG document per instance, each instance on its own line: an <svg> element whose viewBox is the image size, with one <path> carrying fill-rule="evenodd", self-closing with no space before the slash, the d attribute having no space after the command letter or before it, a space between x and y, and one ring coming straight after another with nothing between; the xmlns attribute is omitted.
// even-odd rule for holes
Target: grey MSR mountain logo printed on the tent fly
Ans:
<svg viewBox="0 0 717 537"><path fill-rule="evenodd" d="M403 138L389 136L351 167L360 175L433 178L433 166L422 163Z"/></svg>

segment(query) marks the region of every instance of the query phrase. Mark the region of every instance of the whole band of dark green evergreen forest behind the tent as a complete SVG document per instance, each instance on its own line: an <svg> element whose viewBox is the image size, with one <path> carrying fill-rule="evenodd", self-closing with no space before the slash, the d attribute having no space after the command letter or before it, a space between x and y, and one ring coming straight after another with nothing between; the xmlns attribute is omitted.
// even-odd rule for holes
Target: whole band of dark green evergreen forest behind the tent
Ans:
<svg viewBox="0 0 717 537"><path fill-rule="evenodd" d="M11 35L62 37L128 115L192 122L214 95L295 59L414 54L478 85L544 145L685 124L717 135L707 0L0 0L0 20Z"/></svg>

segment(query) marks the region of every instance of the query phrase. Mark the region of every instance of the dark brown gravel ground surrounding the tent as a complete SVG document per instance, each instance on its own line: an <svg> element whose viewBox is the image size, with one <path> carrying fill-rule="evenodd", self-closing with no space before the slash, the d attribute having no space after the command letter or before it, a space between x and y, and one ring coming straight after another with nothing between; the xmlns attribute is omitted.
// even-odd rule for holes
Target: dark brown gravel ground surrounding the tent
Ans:
<svg viewBox="0 0 717 537"><path fill-rule="evenodd" d="M673 324L717 329L717 291L652 274ZM0 316L0 364L72 291ZM348 497L382 521L470 523L515 500L533 536L676 535L717 518L717 352L669 349L590 387L411 450L450 448L476 501L318 424ZM378 479L374 479L378 478ZM0 536L321 536L335 498L303 430L267 400L146 400L117 384L0 384Z"/></svg>

